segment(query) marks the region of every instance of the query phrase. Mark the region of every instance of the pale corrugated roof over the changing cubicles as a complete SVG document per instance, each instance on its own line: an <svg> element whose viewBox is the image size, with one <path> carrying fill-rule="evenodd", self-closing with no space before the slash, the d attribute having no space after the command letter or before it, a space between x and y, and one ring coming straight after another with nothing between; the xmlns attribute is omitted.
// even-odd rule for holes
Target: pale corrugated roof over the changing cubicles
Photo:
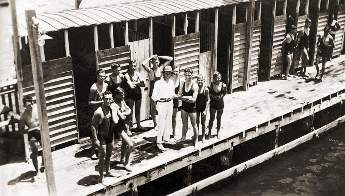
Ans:
<svg viewBox="0 0 345 196"><path fill-rule="evenodd" d="M164 16L248 2L249 0L144 0L105 6L37 13L40 28L47 32L71 27L90 26ZM26 25L18 26L19 36L27 36Z"/></svg>

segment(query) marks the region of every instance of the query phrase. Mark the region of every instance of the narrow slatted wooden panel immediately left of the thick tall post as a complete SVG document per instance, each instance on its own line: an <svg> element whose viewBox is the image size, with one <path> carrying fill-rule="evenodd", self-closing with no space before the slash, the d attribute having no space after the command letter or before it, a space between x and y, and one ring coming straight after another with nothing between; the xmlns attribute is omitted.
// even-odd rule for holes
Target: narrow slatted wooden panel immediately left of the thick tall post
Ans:
<svg viewBox="0 0 345 196"><path fill-rule="evenodd" d="M247 22L234 24L234 32L234 48L232 50L234 58L232 59L232 66L230 66L233 69L233 75L230 76L232 80L231 89L243 86Z"/></svg>

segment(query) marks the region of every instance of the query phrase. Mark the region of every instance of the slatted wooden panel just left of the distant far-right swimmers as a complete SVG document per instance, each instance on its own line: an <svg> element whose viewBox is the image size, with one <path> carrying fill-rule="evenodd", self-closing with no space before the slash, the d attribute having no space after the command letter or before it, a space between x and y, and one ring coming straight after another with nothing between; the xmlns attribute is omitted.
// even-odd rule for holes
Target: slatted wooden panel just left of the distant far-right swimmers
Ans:
<svg viewBox="0 0 345 196"><path fill-rule="evenodd" d="M272 47L272 64L270 68L270 76L282 74L283 71L283 55L282 42L285 38L286 15L274 17L273 31L273 47Z"/></svg>

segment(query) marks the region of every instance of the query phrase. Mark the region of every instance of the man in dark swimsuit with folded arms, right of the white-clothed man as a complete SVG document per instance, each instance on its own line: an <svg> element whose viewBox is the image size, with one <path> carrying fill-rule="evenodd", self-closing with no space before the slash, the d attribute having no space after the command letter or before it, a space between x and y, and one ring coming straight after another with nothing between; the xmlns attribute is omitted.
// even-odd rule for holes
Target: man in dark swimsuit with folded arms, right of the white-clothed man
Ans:
<svg viewBox="0 0 345 196"><path fill-rule="evenodd" d="M185 82L181 84L178 94L181 95L178 99L182 100L181 105L181 119L182 119L182 138L176 141L177 143L186 140L188 131L188 116L194 131L194 149L198 145L198 127L196 125L196 98L198 96L198 85L192 79L193 70L185 69Z"/></svg>

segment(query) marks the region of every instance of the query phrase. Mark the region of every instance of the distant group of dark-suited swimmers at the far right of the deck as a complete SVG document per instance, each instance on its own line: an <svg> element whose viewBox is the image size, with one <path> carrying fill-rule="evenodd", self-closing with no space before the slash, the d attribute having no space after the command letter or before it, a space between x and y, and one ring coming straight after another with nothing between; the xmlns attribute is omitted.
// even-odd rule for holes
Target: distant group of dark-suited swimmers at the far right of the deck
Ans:
<svg viewBox="0 0 345 196"><path fill-rule="evenodd" d="M285 36L285 39L282 42L282 53L286 57L287 60L287 67L285 70L285 79L291 80L293 75L289 74L290 67L293 61L294 55L294 48L297 47L302 52L302 72L301 74L308 77L306 73L306 67L309 64L309 33L310 33L310 26L312 24L312 20L307 18L305 20L304 26L298 31L297 38L295 39L295 34L297 33L297 27L295 25L291 25L289 33ZM325 65L327 60L332 61L332 53L335 39L335 31L339 30L340 26L336 20L334 20L334 15L332 15L331 20L324 28L324 32L317 37L317 52L316 52L316 76L315 79L318 79L319 75L319 67L318 63L322 58L322 71L321 71L321 81L324 81L324 73L325 73Z"/></svg>

